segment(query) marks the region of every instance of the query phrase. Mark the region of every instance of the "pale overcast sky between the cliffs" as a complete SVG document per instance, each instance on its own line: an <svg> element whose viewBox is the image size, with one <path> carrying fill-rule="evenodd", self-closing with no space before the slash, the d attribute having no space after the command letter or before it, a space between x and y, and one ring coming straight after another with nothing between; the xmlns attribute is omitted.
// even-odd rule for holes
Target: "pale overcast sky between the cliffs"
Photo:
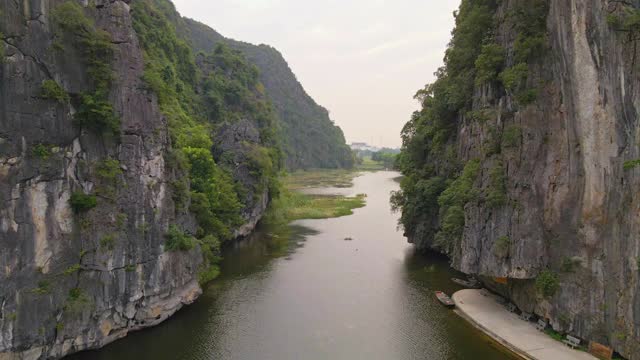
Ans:
<svg viewBox="0 0 640 360"><path fill-rule="evenodd" d="M400 146L460 0L174 0L222 35L280 50L348 142Z"/></svg>

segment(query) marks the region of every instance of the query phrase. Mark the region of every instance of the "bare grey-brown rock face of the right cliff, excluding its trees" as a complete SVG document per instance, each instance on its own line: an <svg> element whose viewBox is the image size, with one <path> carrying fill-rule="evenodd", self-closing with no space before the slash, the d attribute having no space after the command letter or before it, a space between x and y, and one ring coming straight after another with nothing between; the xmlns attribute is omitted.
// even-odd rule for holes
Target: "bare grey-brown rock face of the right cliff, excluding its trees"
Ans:
<svg viewBox="0 0 640 360"><path fill-rule="evenodd" d="M506 49L505 68L516 62L518 32L508 19L518 3L503 1L493 12L492 40ZM623 165L640 157L638 40L612 26L610 16L638 7L548 1L547 49L529 61L526 80L537 99L525 104L498 79L476 84L469 110L490 115L478 121L460 114L449 144L461 163L480 160L480 195L465 204L462 236L446 251L454 267L479 275L556 330L630 359L640 359L640 170ZM496 133L497 154L487 151ZM491 206L498 166L507 200ZM447 221L442 215L418 220L410 240L442 250L435 236ZM541 294L541 278L551 278L555 291Z"/></svg>

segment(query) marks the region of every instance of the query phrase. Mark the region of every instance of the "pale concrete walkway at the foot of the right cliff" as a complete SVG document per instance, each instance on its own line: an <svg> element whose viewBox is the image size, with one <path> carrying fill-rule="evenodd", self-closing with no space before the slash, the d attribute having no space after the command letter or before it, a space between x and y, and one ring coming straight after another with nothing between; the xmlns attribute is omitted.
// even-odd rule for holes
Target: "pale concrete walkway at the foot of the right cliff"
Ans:
<svg viewBox="0 0 640 360"><path fill-rule="evenodd" d="M520 320L483 290L460 290L453 300L459 315L525 359L596 360L539 332L533 323Z"/></svg>

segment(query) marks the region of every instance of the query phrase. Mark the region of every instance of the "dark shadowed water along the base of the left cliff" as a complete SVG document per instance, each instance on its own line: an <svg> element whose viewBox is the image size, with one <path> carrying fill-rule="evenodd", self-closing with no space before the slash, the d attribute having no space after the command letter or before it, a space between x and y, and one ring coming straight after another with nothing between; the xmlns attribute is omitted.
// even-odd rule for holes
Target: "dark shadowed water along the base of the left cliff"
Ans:
<svg viewBox="0 0 640 360"><path fill-rule="evenodd" d="M248 316L229 313L230 307L258 296L264 289L263 280L275 265L274 261L290 258L304 246L307 236L317 233L299 225L259 225L252 234L223 248L220 276L204 287L202 296L194 304L168 321L131 334L105 349L81 352L67 358L204 360L210 358L210 354L230 356L224 351L223 344L214 339L226 331L231 321L242 321ZM236 286L242 279L250 280Z"/></svg>

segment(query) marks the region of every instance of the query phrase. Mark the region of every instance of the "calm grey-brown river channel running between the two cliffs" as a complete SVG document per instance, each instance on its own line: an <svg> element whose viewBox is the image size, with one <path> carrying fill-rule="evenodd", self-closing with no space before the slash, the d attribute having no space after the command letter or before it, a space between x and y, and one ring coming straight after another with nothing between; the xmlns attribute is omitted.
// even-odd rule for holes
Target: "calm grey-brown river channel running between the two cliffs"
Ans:
<svg viewBox="0 0 640 360"><path fill-rule="evenodd" d="M73 359L510 359L441 306L447 260L416 253L391 212L395 172L365 173L352 216L261 228L225 250L222 275L160 326ZM352 238L352 240L345 240Z"/></svg>

